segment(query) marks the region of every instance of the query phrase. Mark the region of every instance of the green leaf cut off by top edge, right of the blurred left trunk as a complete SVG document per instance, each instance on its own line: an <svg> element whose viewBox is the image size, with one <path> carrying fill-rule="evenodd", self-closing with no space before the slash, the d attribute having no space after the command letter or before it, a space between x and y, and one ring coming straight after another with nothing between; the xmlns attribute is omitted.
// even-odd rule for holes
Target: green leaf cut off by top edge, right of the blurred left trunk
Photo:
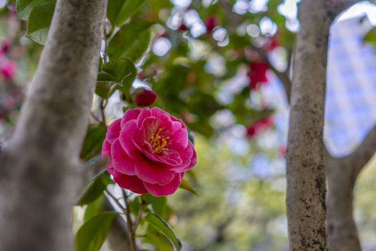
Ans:
<svg viewBox="0 0 376 251"><path fill-rule="evenodd" d="M121 26L138 11L146 0L109 0L107 17L113 26Z"/></svg>

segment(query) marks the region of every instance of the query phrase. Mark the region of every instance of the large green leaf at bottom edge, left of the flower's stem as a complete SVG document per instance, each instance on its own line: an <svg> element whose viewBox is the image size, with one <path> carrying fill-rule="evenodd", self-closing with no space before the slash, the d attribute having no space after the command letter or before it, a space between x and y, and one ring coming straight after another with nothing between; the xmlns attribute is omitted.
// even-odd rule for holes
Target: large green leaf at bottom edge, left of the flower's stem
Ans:
<svg viewBox="0 0 376 251"><path fill-rule="evenodd" d="M74 245L76 251L97 251L103 245L116 212L103 212L86 221L78 230Z"/></svg>

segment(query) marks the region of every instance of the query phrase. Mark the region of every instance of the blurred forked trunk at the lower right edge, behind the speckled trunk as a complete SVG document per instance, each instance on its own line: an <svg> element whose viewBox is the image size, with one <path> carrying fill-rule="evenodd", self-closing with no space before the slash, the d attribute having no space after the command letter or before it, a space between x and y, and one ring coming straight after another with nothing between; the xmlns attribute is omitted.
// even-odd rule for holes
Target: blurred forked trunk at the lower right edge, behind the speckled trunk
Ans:
<svg viewBox="0 0 376 251"><path fill-rule="evenodd" d="M332 250L360 251L353 217L353 192L359 172L376 151L376 126L352 153L335 158L325 149L328 242Z"/></svg>

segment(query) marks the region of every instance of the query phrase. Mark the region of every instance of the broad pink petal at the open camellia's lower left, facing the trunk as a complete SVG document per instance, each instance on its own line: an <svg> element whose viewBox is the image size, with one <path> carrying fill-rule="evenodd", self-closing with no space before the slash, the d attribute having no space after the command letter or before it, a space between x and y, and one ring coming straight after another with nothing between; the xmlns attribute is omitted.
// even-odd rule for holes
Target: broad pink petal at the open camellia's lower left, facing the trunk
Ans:
<svg viewBox="0 0 376 251"><path fill-rule="evenodd" d="M112 143L111 156L112 165L116 171L127 175L136 174L134 171L134 160L124 151L119 139L116 139Z"/></svg>

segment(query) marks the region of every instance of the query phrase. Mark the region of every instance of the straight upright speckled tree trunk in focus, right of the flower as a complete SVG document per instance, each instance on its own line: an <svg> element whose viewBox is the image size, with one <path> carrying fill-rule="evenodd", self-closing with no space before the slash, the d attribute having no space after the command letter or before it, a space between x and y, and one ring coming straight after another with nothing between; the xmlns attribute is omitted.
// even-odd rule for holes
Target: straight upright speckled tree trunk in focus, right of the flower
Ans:
<svg viewBox="0 0 376 251"><path fill-rule="evenodd" d="M290 250L327 250L323 125L330 1L299 4L286 151Z"/></svg>

